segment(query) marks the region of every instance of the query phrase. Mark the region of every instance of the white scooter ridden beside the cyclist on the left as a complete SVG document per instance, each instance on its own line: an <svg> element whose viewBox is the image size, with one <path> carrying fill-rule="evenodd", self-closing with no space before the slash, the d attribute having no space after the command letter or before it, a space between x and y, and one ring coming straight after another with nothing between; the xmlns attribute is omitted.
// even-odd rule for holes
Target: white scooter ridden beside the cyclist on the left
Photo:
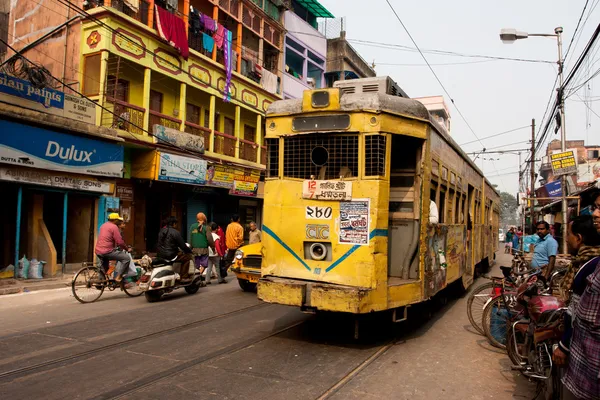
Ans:
<svg viewBox="0 0 600 400"><path fill-rule="evenodd" d="M140 263L146 267L147 272L140 279L139 290L144 292L149 303L159 301L163 294L180 288L184 288L188 294L195 294L202 285L202 275L193 261L190 262L189 277L185 280L176 272L181 271L180 262L144 256Z"/></svg>

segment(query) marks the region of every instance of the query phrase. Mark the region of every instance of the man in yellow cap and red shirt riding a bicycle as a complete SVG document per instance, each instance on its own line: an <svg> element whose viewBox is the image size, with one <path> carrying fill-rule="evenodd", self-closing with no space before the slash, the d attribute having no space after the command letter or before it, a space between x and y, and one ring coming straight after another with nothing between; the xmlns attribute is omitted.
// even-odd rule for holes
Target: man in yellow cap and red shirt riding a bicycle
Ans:
<svg viewBox="0 0 600 400"><path fill-rule="evenodd" d="M116 281L120 282L123 279L123 273L129 269L129 263L131 257L123 250L126 249L127 245L121 236L119 231L119 225L123 222L123 218L117 213L109 214L108 222L105 222L100 227L100 233L98 234L98 240L96 241L96 255L98 255L103 262L103 266L106 269L109 260L120 261L117 263L117 278Z"/></svg>

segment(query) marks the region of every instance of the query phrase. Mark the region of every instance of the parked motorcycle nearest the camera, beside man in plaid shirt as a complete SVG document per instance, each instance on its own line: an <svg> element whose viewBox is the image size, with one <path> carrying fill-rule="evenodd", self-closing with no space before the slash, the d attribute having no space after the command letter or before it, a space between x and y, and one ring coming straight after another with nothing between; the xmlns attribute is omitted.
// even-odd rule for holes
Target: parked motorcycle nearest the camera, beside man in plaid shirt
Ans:
<svg viewBox="0 0 600 400"><path fill-rule="evenodd" d="M552 353L564 331L564 302L550 296L546 285L532 277L517 290L520 318L511 322L506 337L506 350L513 369L545 385L548 395L557 394L559 380L552 363Z"/></svg>

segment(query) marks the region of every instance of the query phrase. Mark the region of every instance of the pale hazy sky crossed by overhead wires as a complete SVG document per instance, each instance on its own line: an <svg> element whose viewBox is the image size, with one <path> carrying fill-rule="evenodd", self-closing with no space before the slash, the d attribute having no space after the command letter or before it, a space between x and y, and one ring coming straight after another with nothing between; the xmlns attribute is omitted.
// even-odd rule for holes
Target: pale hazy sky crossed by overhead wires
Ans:
<svg viewBox="0 0 600 400"><path fill-rule="evenodd" d="M425 66L417 52L398 51L359 44L352 40L413 46L410 38L391 12L385 0L320 0L336 17L345 17L346 37L352 46L369 62L375 61L377 75L389 75L411 97L444 94L440 84ZM585 0L391 0L409 32L421 49L436 49L465 54L492 55L511 58L548 60L558 59L555 38L531 37L513 44L499 39L501 28L516 28L529 33L553 33L564 28L563 45L571 41ZM573 46L566 63L566 73L585 47L600 22L600 0L590 0L593 9L587 23L580 28L581 38ZM583 24L583 21L582 21ZM579 33L578 33L579 35ZM480 62L482 59L425 54L438 77L452 96L479 138L523 127L535 118L539 125L546 109L550 91L556 78L555 64L514 61ZM592 62L599 60L597 53ZM473 61L478 61L473 63ZM436 65L447 63L460 65ZM419 64L417 66L386 64ZM598 69L600 61L591 67ZM598 78L596 78L598 82ZM599 96L600 90L591 95ZM583 90L578 94L583 98ZM589 95L589 93L588 93ZM452 118L452 136L459 144L475 140L447 95ZM586 103L577 96L566 102L567 139L585 139L586 144L600 144L600 117L587 111ZM587 103L600 114L600 102ZM549 135L549 140L560 139L560 133ZM530 128L497 138L483 140L486 148L503 146L497 150L529 148ZM467 152L481 151L478 142L467 144ZM545 152L544 145L543 151ZM523 160L527 154L523 153ZM494 158L486 160L482 158ZM499 160L497 160L499 158ZM537 157L536 157L537 158ZM518 188L517 155L484 155L477 160L488 179L500 190L515 193ZM496 175L496 176L495 176ZM498 176L499 175L499 176ZM537 185L536 185L537 186Z"/></svg>

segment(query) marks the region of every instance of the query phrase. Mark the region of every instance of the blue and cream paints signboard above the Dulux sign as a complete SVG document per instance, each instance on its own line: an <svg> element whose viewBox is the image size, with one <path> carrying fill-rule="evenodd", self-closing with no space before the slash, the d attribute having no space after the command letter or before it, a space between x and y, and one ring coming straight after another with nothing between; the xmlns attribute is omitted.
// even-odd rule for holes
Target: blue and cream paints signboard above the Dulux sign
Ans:
<svg viewBox="0 0 600 400"><path fill-rule="evenodd" d="M36 88L31 82L0 73L0 101L96 124L96 103L50 88Z"/></svg>

